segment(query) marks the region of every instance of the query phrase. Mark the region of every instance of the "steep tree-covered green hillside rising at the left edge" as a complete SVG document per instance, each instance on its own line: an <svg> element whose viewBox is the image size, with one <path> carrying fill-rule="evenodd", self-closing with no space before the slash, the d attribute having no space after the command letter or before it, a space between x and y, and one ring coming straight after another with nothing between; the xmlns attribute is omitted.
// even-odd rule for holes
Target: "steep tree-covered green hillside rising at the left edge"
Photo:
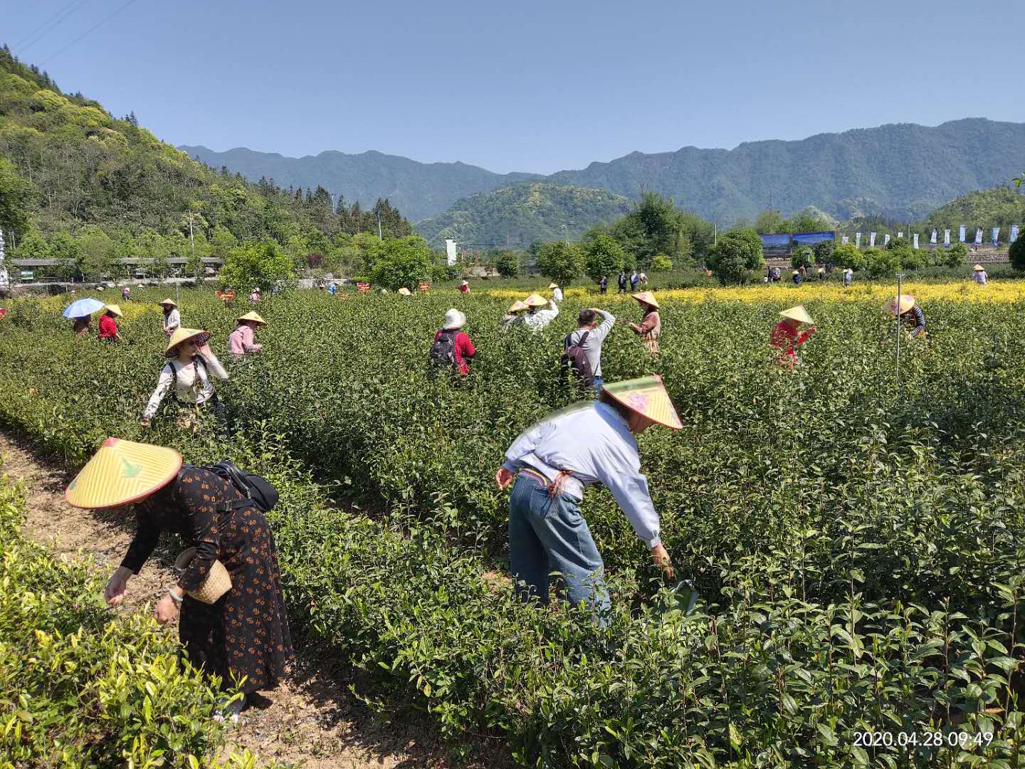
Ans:
<svg viewBox="0 0 1025 769"><path fill-rule="evenodd" d="M323 235L315 208L271 185L213 171L134 116L118 119L65 94L0 49L0 228L8 245L24 244L22 255L64 256L86 243L93 262L153 255L147 244L156 243L184 255L190 212L204 253L266 239L305 244Z"/></svg>

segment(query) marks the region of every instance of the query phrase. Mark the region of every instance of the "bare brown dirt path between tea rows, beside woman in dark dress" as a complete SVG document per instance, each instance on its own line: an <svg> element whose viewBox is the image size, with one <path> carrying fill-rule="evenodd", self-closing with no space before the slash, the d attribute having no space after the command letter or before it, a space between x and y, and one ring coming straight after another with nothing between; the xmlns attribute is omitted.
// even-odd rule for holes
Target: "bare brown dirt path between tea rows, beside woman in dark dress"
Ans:
<svg viewBox="0 0 1025 769"><path fill-rule="evenodd" d="M102 572L120 564L131 540L133 522L69 505L64 499L70 481L67 471L35 453L28 442L9 431L0 431L0 473L25 483L27 521L23 530L27 536L60 557L89 560ZM132 577L121 611L138 610L164 595L174 581L172 562L169 552L158 550ZM351 685L360 688L358 672L309 649L297 648L296 656L285 685L266 692L266 697L242 714L229 734L232 747L248 747L260 761L295 762L306 769L451 766L426 717L400 713L382 721L351 693ZM487 763L508 765L505 760Z"/></svg>

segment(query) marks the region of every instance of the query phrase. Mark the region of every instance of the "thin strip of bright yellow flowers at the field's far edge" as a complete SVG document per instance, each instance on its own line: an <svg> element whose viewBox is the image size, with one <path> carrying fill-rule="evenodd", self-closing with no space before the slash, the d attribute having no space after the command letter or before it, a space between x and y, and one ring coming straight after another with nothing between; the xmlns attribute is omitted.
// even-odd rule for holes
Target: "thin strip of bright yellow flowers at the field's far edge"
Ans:
<svg viewBox="0 0 1025 769"><path fill-rule="evenodd" d="M1025 299L1025 281L1018 280L990 280L988 285L980 286L972 281L950 282L950 283L926 283L917 281L904 281L901 287L903 293L909 293L922 302L933 299L946 299L953 301L992 301L992 302L1015 302ZM863 283L844 288L837 283L826 283L818 285L815 282L808 282L799 287L790 284L774 284L754 286L736 286L723 288L674 288L664 291L654 291L653 293L662 301L664 299L675 299L678 301L779 301L801 303L812 299L824 299L829 301L878 301L885 302L893 297L897 292L896 282L890 286L879 283ZM508 299L522 299L529 292L497 289L487 291L492 296L502 296ZM564 289L566 296L593 296L594 294L584 288ZM550 295L545 292L545 295ZM602 302L618 302L633 299L630 294L609 293L602 296Z"/></svg>

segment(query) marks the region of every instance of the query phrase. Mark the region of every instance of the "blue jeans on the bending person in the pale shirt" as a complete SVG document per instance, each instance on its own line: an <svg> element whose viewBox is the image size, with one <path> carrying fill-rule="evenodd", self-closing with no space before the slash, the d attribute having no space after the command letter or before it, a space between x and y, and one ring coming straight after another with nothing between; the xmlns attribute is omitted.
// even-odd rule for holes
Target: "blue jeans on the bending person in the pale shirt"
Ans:
<svg viewBox="0 0 1025 769"><path fill-rule="evenodd" d="M532 475L517 476L509 498L509 565L521 601L548 603L548 575L559 572L566 598L583 601L605 624L609 592L605 564L587 522L572 494L548 495L547 487ZM525 582L526 584L520 584Z"/></svg>

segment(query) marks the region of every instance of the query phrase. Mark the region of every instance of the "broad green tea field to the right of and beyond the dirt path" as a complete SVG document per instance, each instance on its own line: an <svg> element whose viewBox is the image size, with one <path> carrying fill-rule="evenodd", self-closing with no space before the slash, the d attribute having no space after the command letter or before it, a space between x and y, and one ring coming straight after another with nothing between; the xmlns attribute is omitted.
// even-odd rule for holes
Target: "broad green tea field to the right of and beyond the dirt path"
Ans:
<svg viewBox="0 0 1025 769"><path fill-rule="evenodd" d="M616 593L604 631L516 605L492 573L506 553L495 469L576 399L558 358L597 295L568 290L540 335L498 330L500 290L269 298L264 352L218 387L229 445L171 418L139 427L163 360L156 306L123 306L125 342L108 346L74 338L54 300L16 300L0 322L0 420L72 464L116 435L266 473L294 621L427 709L457 751L489 734L531 766L1014 766L1025 290L905 291L929 340L904 340L899 378L881 286L660 292L658 359L617 324L606 380L662 374L685 424L645 433L641 455L702 602L673 612L611 495L591 490L582 512ZM632 299L603 300L639 320ZM768 336L797 301L819 333L791 372ZM218 354L247 309L180 303ZM449 307L479 350L459 388L425 370Z"/></svg>

